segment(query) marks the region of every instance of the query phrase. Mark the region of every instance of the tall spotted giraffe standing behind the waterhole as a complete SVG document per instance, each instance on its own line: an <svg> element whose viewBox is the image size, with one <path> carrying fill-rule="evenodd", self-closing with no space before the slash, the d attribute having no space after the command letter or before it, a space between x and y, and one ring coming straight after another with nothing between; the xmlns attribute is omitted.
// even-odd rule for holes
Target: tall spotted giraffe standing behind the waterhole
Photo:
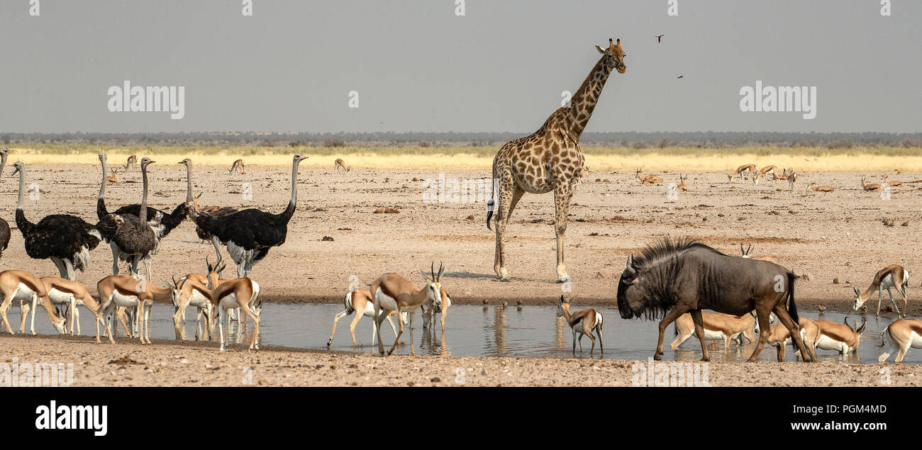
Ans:
<svg viewBox="0 0 922 450"><path fill-rule="evenodd" d="M496 212L496 254L493 270L501 280L509 280L502 235L512 216L515 205L525 193L547 194L554 192L554 231L557 234L557 282L570 280L563 264L563 237L567 230L567 215L576 183L585 171L585 160L579 149L589 117L596 108L599 94L611 70L623 74L624 52L621 39L609 39L609 47L596 46L602 53L583 85L573 94L568 106L550 114L548 120L531 136L507 142L493 159L493 196L499 188L499 203L494 198L487 202L487 228Z"/></svg>

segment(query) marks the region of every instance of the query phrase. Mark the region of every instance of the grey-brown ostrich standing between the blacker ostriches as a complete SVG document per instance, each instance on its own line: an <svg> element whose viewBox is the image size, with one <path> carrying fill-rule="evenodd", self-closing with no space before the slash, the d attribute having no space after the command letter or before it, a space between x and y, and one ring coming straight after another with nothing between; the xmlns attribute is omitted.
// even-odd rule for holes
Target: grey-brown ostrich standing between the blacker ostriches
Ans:
<svg viewBox="0 0 922 450"><path fill-rule="evenodd" d="M141 160L144 192L141 195L141 205L138 211L148 210L148 164L153 162L149 158ZM102 183L102 190L104 190L105 182ZM157 253L160 240L146 220L138 219L134 214L113 213L100 219L96 228L99 229L102 239L112 248L112 275L118 275L118 263L125 261L131 264L129 267L131 275L137 277L137 265L143 260L148 271L147 279L148 281L151 279L150 255Z"/></svg>

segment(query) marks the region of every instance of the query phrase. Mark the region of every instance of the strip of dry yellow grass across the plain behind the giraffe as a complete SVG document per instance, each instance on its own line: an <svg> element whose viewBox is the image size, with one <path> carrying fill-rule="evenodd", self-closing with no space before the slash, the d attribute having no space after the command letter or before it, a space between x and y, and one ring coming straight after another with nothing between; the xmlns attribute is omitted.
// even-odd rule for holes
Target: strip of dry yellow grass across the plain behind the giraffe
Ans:
<svg viewBox="0 0 922 450"><path fill-rule="evenodd" d="M356 169L479 170L490 171L499 147L449 148L214 148L120 147L41 145L10 147L10 160L27 164L98 164L97 154L109 155L110 164L122 164L131 154L148 156L161 164L191 158L195 165L231 167L242 158L246 165L287 166L291 154L309 157L301 167L333 169L337 158ZM888 151L890 150L890 151ZM922 172L922 154L905 148L583 148L590 172L732 172L739 165L774 164L798 172Z"/></svg>

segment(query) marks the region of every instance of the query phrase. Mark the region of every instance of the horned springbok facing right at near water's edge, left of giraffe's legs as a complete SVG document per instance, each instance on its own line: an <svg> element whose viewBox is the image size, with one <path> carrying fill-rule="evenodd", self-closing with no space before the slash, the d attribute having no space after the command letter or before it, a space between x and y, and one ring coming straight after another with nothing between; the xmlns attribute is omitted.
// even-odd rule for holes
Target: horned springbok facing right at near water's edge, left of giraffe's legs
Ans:
<svg viewBox="0 0 922 450"><path fill-rule="evenodd" d="M445 267L441 262L439 263L438 274L435 273L435 263L432 263L430 267L431 277L420 269L420 276L426 282L426 287L423 290L416 289L413 282L396 273L386 273L372 282L374 318L377 321L378 329L381 329L384 317L387 317L387 315L382 315L382 310L387 314L390 314L391 311L396 311L397 314L407 312L409 314L409 351L413 356L416 356L416 350L413 349L413 313L422 303L429 302L434 304L436 302L440 296L439 293L442 292L442 274L444 271ZM400 322L400 330L397 332L396 339L394 339L394 345L387 351L387 355L394 353L401 335L403 335L403 322ZM384 355L384 341L381 338L381 333L378 333L378 350Z"/></svg>

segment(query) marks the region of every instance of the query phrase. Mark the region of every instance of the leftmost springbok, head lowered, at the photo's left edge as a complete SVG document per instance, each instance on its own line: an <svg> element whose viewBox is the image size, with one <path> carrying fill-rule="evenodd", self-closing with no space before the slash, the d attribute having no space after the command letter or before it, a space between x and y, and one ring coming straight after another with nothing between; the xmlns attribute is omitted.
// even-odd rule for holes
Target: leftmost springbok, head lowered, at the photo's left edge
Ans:
<svg viewBox="0 0 922 450"><path fill-rule="evenodd" d="M0 317L6 325L6 331L14 335L13 328L9 326L9 319L6 318L6 312L9 311L14 300L19 301L19 333L24 334L26 331L26 314L32 312L32 325L30 332L35 334L35 310L38 307L41 298L41 307L44 308L48 318L51 319L54 329L65 334L66 320L58 316L54 311L52 302L48 299L48 290L45 289L44 283L40 278L24 270L4 270L0 272L0 293L3 293L3 303L0 303ZM25 304L23 302L26 302Z"/></svg>

